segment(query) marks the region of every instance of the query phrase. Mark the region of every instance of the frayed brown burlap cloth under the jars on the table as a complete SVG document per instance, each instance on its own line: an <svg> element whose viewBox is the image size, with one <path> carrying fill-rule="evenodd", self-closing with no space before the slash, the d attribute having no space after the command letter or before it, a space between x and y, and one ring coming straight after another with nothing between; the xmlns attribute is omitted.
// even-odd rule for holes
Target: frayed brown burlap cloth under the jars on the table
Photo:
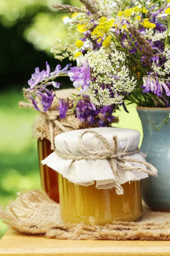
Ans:
<svg viewBox="0 0 170 256"><path fill-rule="evenodd" d="M0 207L0 218L11 229L48 238L70 240L170 240L170 213L153 212L143 207L138 222L113 221L98 226L94 219L87 224L66 224L59 216L59 204L44 192L33 190L18 193L6 210Z"/></svg>

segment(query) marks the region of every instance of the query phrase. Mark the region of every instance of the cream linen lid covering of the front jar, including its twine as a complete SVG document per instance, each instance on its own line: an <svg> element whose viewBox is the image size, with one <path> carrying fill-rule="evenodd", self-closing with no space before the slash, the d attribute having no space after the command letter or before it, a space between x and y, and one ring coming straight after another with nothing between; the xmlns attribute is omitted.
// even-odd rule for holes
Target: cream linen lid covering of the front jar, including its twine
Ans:
<svg viewBox="0 0 170 256"><path fill-rule="evenodd" d="M98 189L113 188L116 182L123 184L148 177L144 157L138 150L139 141L139 131L132 129L69 131L55 137L56 151L42 164L73 183L89 186L96 182Z"/></svg>

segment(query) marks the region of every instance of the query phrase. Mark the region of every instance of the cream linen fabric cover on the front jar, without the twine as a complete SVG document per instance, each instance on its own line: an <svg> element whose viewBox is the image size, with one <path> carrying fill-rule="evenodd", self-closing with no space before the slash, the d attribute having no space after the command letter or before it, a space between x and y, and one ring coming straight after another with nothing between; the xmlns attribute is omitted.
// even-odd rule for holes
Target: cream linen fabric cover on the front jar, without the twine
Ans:
<svg viewBox="0 0 170 256"><path fill-rule="evenodd" d="M115 146L113 137L116 136L117 152L119 153L135 151L139 146L140 134L139 131L136 130L124 128L92 128L88 130L96 131L97 133L101 134L107 140L111 148L114 148ZM65 155L86 156L87 154L79 146L78 141L78 137L83 131L87 131L87 129L68 131L57 135L55 137L56 150ZM83 135L82 145L90 151L100 151L104 148L103 142L98 140L96 135L91 132ZM141 180L148 177L147 172L132 169L130 171L119 169L117 177L115 177L108 159L65 159L61 156L61 154L58 154L57 151L54 151L47 158L45 158L45 160L42 160L42 164L46 164L50 168L59 172L70 182L75 184L90 186L96 181L97 189L111 189L116 187L116 179L118 180L119 184L123 184L127 181L130 182ZM143 154L139 151L137 151L135 154L127 156L130 159L137 159L139 162L145 162ZM128 161L125 164L130 167L136 166L143 170L147 170L147 167L142 163Z"/></svg>

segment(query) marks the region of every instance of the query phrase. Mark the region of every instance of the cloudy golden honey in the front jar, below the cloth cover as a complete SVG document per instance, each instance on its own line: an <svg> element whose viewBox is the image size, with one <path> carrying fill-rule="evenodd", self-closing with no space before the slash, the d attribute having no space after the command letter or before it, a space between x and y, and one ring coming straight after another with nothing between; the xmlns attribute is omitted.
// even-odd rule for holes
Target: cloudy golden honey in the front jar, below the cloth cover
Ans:
<svg viewBox="0 0 170 256"><path fill-rule="evenodd" d="M142 215L140 181L122 184L123 195L113 189L96 189L96 184L79 186L59 174L60 214L65 222L89 223L93 217L99 225L112 221L136 221Z"/></svg>

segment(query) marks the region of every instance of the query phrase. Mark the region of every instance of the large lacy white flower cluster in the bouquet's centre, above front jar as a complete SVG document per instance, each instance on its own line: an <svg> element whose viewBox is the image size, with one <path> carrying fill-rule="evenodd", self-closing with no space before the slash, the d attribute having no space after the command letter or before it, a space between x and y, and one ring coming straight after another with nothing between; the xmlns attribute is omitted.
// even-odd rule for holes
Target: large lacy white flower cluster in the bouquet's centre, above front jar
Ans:
<svg viewBox="0 0 170 256"><path fill-rule="evenodd" d="M124 52L114 50L110 53L101 47L97 51L88 52L84 62L86 59L91 68L91 82L86 93L94 104L120 104L124 95L135 88L136 79L130 76L125 65Z"/></svg>

